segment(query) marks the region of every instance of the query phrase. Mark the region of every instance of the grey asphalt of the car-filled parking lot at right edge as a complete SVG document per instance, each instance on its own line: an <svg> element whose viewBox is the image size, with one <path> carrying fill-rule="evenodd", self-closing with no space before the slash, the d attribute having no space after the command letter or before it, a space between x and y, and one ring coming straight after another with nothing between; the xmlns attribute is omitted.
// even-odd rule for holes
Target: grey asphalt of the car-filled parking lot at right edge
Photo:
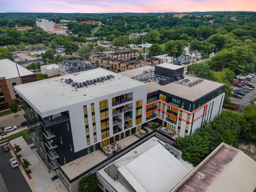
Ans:
<svg viewBox="0 0 256 192"><path fill-rule="evenodd" d="M231 97L230 99L231 99L232 103L241 104L241 105L244 105L244 106L250 105L250 101L253 100L256 97L256 77L252 78L252 80L250 80L248 82L248 84L251 84L251 85L255 86L255 88L250 90L244 96L242 96L242 98ZM232 87L234 87L234 86L232 86ZM241 88L239 88L239 89L241 89Z"/></svg>

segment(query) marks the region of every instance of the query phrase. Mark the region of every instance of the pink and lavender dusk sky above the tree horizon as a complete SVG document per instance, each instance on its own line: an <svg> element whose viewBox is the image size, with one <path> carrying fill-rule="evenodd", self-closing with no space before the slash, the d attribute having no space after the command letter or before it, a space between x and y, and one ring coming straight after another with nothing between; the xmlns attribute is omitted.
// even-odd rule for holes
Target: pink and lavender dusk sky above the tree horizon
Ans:
<svg viewBox="0 0 256 192"><path fill-rule="evenodd" d="M0 12L254 11L256 0L0 0Z"/></svg>

